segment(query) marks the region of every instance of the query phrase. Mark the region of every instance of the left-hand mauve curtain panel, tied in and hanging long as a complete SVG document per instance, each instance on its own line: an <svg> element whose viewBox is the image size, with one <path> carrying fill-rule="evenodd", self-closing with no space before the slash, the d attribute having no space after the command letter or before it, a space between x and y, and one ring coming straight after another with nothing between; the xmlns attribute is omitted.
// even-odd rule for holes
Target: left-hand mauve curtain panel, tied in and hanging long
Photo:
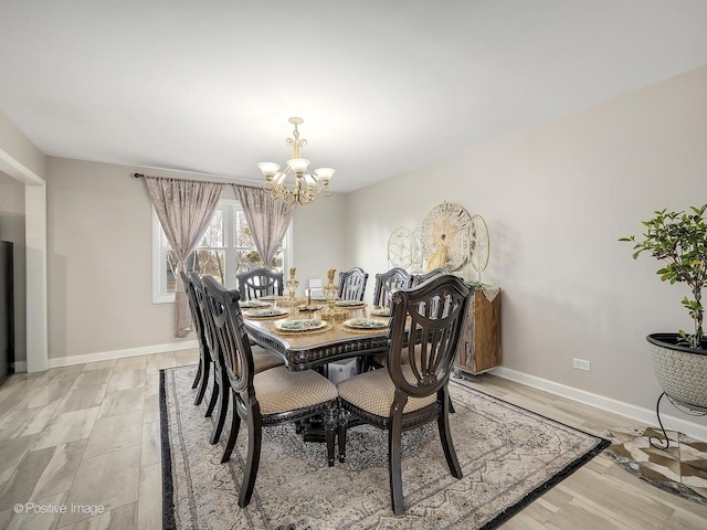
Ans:
<svg viewBox="0 0 707 530"><path fill-rule="evenodd" d="M175 273L175 337L187 337L191 315L179 273L203 236L225 184L145 176L147 191L167 241L177 256Z"/></svg>

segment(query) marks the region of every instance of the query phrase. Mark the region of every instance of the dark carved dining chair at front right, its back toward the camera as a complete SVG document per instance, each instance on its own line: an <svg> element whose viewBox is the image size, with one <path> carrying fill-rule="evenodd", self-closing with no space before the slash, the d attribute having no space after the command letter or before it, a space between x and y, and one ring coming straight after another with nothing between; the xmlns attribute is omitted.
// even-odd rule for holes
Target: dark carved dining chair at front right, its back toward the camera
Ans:
<svg viewBox="0 0 707 530"><path fill-rule="evenodd" d="M384 369L337 384L339 460L346 458L347 413L388 431L388 475L393 512L404 513L401 475L402 432L436 421L450 471L462 478L450 431L450 373L462 339L473 288L451 274L395 290L391 300ZM403 363L403 358L408 363Z"/></svg>

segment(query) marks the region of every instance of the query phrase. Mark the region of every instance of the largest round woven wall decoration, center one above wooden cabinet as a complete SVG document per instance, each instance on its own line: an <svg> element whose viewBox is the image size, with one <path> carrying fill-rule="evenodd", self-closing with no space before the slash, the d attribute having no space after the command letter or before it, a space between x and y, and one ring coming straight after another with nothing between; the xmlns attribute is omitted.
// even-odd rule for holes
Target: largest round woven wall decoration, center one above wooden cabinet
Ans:
<svg viewBox="0 0 707 530"><path fill-rule="evenodd" d="M434 206L422 222L422 246L426 271L446 267L458 269L469 254L472 216L454 202Z"/></svg>

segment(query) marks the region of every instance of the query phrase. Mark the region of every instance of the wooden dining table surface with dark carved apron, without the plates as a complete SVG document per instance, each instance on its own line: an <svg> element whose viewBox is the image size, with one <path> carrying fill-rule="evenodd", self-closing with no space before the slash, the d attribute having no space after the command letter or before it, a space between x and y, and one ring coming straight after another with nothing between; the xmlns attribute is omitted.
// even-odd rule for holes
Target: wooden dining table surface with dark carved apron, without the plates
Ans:
<svg viewBox="0 0 707 530"><path fill-rule="evenodd" d="M367 358L383 353L388 348L388 317L371 315L372 306L362 304L359 307L336 307L340 311L338 318L326 315L326 303L314 303L320 309L300 310L307 300L289 300L276 298L274 307L287 312L277 317L256 318L252 311L243 308L245 329L251 339L282 357L289 370L309 370L333 361L350 358ZM312 306L308 306L312 307ZM346 326L346 321L355 318L373 318L386 322L379 329L357 329ZM320 319L326 322L320 329L287 331L278 328L282 320Z"/></svg>

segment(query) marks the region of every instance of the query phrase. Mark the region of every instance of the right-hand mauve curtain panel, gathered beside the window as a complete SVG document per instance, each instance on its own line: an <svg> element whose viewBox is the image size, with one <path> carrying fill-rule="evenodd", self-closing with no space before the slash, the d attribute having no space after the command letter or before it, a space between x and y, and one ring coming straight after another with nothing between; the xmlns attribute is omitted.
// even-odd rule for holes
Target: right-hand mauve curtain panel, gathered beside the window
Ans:
<svg viewBox="0 0 707 530"><path fill-rule="evenodd" d="M263 265L267 267L287 232L295 208L273 199L261 188L233 184L233 190L243 208Z"/></svg>

